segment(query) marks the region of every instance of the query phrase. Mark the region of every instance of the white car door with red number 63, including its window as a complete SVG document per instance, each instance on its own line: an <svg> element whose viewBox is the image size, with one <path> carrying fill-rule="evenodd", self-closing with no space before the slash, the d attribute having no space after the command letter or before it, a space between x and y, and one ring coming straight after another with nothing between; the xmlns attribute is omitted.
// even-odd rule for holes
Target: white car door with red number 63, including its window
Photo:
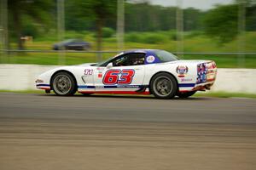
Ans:
<svg viewBox="0 0 256 170"><path fill-rule="evenodd" d="M141 59L140 63L136 64L136 57ZM124 54L110 60L110 66L97 67L94 75L96 91L129 92L143 88L144 57L144 54Z"/></svg>

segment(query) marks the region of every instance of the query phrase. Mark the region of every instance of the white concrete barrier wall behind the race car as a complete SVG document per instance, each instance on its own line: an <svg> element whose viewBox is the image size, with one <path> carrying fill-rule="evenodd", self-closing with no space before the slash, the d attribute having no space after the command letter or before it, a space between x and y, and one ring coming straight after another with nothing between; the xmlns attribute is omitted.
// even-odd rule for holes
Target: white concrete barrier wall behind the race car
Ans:
<svg viewBox="0 0 256 170"><path fill-rule="evenodd" d="M0 65L1 90L33 90L36 77L56 65ZM256 94L256 69L218 69L212 91Z"/></svg>

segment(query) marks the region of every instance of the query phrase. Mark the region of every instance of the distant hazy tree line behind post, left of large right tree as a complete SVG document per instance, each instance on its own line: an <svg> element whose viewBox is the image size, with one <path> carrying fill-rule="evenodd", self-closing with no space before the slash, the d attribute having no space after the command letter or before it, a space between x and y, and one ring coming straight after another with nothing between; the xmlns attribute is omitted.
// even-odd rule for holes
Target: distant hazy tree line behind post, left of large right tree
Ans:
<svg viewBox="0 0 256 170"><path fill-rule="evenodd" d="M169 31L176 29L176 7L162 7L150 3L126 3L125 31ZM184 30L202 29L206 12L195 8L183 9Z"/></svg>

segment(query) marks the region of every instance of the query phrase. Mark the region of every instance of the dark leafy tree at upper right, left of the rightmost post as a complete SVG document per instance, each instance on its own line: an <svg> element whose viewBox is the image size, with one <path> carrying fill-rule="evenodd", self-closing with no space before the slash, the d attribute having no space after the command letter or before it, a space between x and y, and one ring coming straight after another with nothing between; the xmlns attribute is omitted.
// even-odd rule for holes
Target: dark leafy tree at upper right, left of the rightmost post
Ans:
<svg viewBox="0 0 256 170"><path fill-rule="evenodd" d="M230 42L237 33L238 7L236 4L218 5L204 18L205 32L219 42Z"/></svg>

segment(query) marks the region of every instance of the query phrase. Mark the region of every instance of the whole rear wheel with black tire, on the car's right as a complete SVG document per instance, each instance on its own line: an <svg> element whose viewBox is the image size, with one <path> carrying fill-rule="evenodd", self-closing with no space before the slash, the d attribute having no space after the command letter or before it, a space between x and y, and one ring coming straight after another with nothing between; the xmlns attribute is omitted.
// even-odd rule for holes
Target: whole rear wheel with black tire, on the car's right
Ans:
<svg viewBox="0 0 256 170"><path fill-rule="evenodd" d="M177 82L172 75L162 72L150 82L150 91L158 99L172 99L177 94Z"/></svg>

